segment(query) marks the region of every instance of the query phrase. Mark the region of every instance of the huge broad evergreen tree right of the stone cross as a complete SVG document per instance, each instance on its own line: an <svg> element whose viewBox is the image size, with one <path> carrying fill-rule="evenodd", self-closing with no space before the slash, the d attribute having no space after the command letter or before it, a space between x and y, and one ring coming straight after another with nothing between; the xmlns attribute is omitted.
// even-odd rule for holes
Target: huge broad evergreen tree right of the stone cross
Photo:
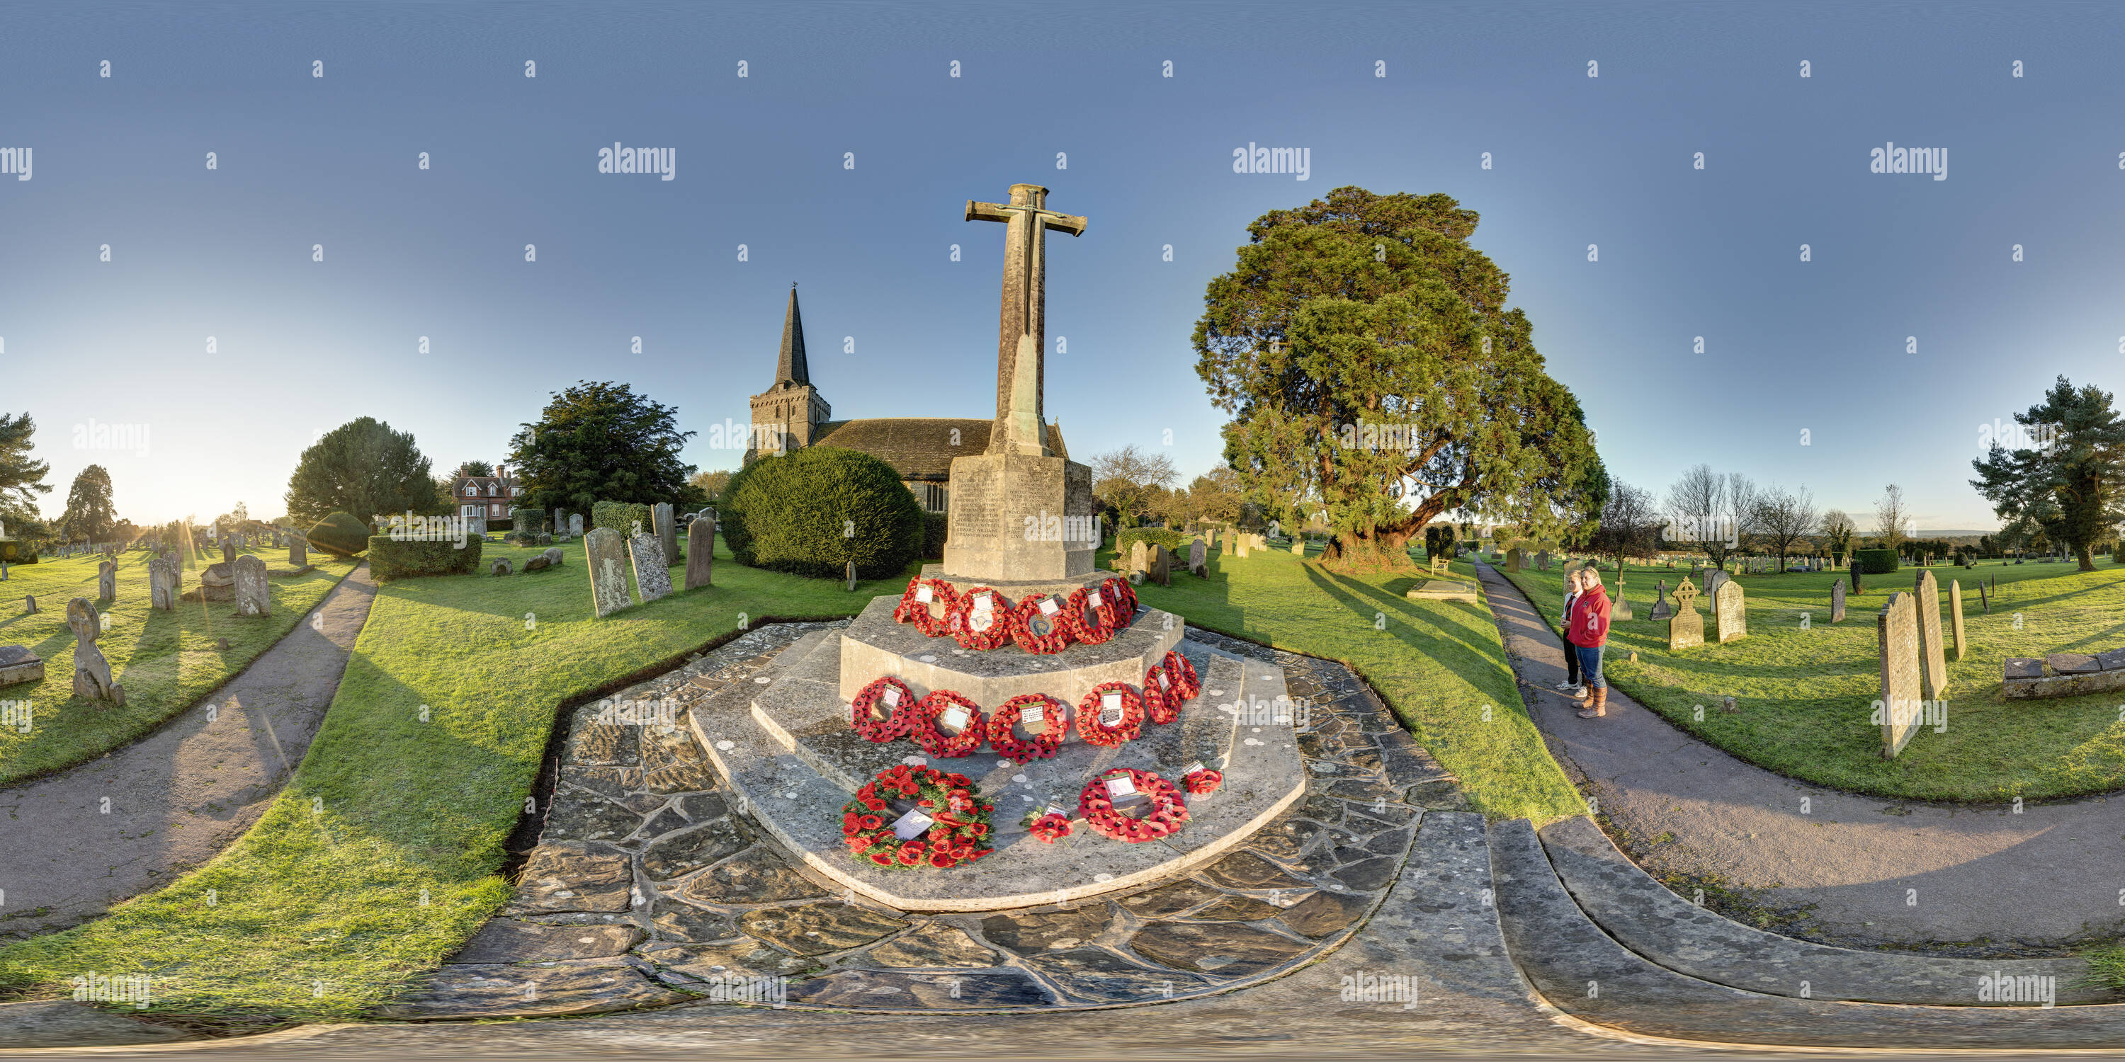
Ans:
<svg viewBox="0 0 2125 1062"><path fill-rule="evenodd" d="M1269 516L1326 508L1337 567L1407 567L1441 512L1564 535L1600 512L1579 399L1447 195L1341 187L1247 232L1209 282L1196 372Z"/></svg>

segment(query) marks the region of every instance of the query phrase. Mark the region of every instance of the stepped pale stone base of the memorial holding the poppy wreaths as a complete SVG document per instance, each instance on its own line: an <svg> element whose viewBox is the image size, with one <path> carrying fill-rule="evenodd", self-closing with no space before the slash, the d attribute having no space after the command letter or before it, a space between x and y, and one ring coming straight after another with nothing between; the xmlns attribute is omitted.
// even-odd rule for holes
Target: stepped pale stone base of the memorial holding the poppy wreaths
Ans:
<svg viewBox="0 0 2125 1062"><path fill-rule="evenodd" d="M1016 646L965 652L948 637L922 637L912 624L892 622L897 601L873 599L846 633L805 635L754 678L759 688L742 712L737 701L725 701L688 714L703 750L761 824L810 871L846 890L903 911L992 911L1141 888L1216 860L1305 794L1298 752L1305 714L1294 714L1284 671L1182 639L1177 616L1141 610L1103 646L1039 656ZM1182 716L1164 726L1145 720L1143 735L1120 748L1077 739L1077 701L1099 682L1141 688L1143 671L1167 650L1182 652L1203 682ZM1069 737L1054 758L1031 763L1005 760L986 746L963 758L931 758L905 737L865 741L850 726L848 699L886 673L918 697L948 688L984 712L1018 692L1050 692L1069 709ZM1122 843L1080 822L1077 833L1048 845L1020 824L1026 811L1048 805L1075 816L1080 790L1111 767L1156 771L1179 784L1194 760L1220 769L1224 784L1190 796L1188 824L1160 841ZM994 805L994 854L950 871L850 858L842 805L878 771L901 763L975 780Z"/></svg>

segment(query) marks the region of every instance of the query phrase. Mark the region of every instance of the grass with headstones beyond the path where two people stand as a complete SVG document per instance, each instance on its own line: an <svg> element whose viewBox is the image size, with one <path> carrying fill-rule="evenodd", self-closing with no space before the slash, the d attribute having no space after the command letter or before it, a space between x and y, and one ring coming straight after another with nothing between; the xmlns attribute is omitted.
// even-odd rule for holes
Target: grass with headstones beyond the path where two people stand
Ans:
<svg viewBox="0 0 2125 1062"><path fill-rule="evenodd" d="M1874 616L1891 590L1910 590L1917 576L1910 567L1866 576L1866 593L1844 601L1838 624L1830 622L1830 584L1842 573L1742 576L1749 637L1679 654L1668 652L1668 622L1645 618L1653 610L1653 582L1674 586L1677 573L1632 567L1626 590L1638 618L1613 624L1602 671L1674 726L1738 758L1847 792L1993 803L2125 788L2125 697L2000 699L2000 669L2008 656L2125 646L2125 565L2106 559L2080 573L2072 563L1989 561L1976 569L1936 565L1932 571L1940 584L1942 641L1951 641L1949 580L1961 580L1970 646L1964 661L1955 661L1953 650L1946 654L1946 731L1921 729L1896 760L1881 756L1881 729L1870 724L1881 697ZM1987 614L1976 580L1993 576L2000 590ZM1556 629L1562 569L1507 578ZM1613 593L1613 571L1602 580ZM1711 641L1717 635L1702 597L1698 614ZM1810 620L1806 631L1802 614ZM1638 663L1628 661L1632 650ZM1740 712L1721 714L1723 697L1734 697ZM1696 705L1704 705L1702 720Z"/></svg>

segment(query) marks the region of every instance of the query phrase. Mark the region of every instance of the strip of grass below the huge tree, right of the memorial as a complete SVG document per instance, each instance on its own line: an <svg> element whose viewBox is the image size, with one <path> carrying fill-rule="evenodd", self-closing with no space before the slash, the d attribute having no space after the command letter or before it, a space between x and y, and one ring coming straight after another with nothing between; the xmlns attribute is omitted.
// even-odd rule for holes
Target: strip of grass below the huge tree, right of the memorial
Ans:
<svg viewBox="0 0 2125 1062"><path fill-rule="evenodd" d="M1105 552L1101 563L1114 567ZM1451 571L1475 582L1466 561ZM1541 826L1583 813L1528 718L1490 610L1402 597L1426 578L1337 576L1284 550L1245 559L1213 550L1207 580L1179 569L1171 588L1145 582L1137 597L1192 627L1352 667L1485 816ZM1386 631L1375 629L1381 614Z"/></svg>

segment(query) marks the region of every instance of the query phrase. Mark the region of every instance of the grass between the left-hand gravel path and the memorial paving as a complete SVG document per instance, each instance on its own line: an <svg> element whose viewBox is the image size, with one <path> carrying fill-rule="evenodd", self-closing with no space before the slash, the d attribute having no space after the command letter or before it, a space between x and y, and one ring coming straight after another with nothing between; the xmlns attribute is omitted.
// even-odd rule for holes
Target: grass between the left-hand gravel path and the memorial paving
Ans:
<svg viewBox="0 0 2125 1062"><path fill-rule="evenodd" d="M484 573L538 552L489 544L478 576L385 582L310 752L259 822L159 892L0 949L0 996L60 994L81 971L153 973L159 1013L359 1017L508 898L502 845L563 703L682 661L740 614L852 616L912 576L848 593L718 550L714 586L593 620L580 542L561 546L559 569ZM682 565L672 580L684 584Z"/></svg>

